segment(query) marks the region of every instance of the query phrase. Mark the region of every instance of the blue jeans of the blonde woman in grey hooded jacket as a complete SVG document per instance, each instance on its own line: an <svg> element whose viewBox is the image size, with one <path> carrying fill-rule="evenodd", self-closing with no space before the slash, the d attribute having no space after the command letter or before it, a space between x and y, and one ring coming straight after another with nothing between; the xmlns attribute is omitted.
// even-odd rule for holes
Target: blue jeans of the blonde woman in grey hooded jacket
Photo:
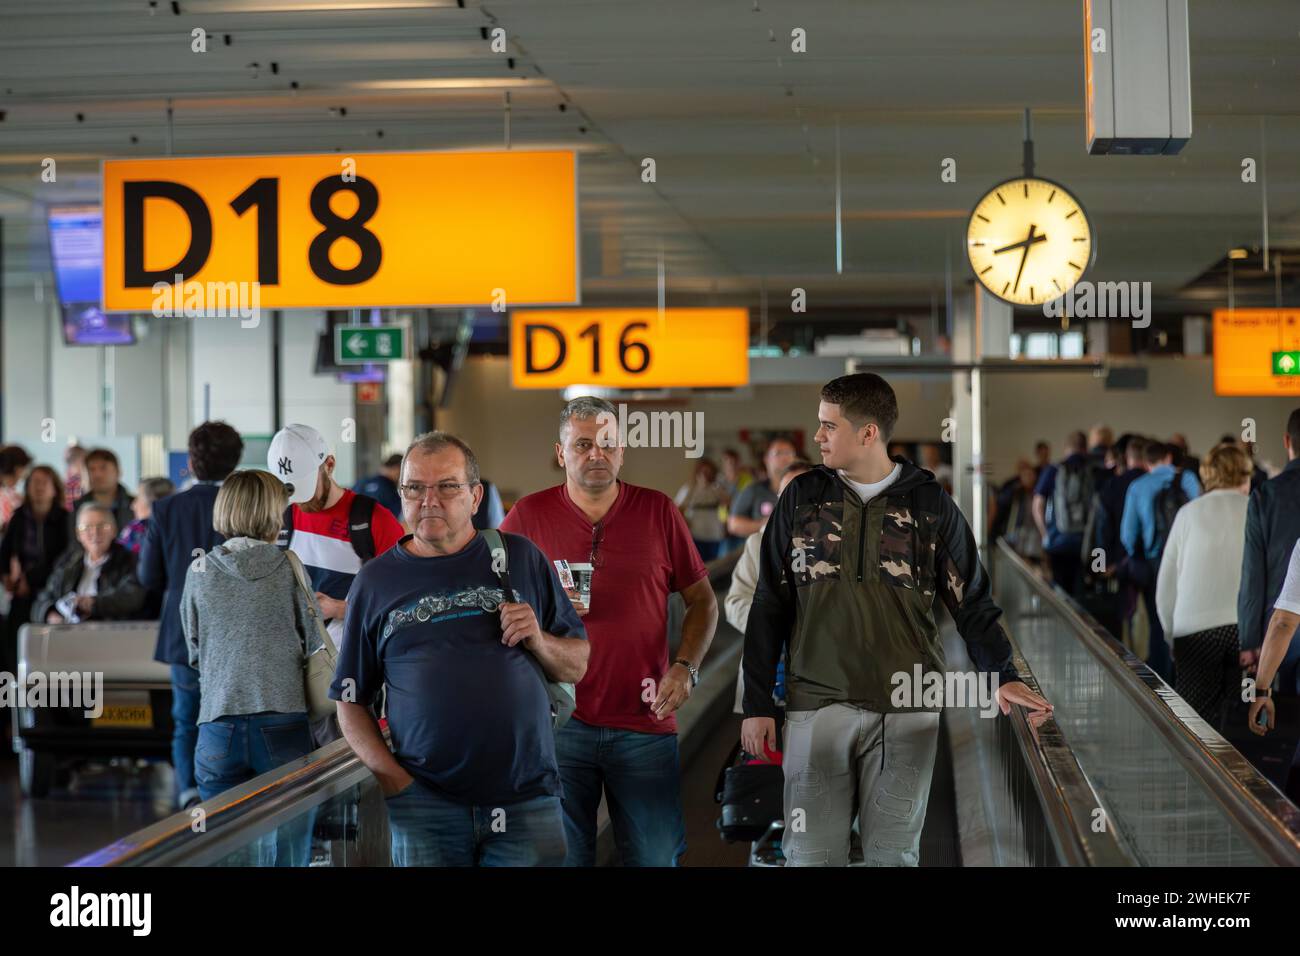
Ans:
<svg viewBox="0 0 1300 956"><path fill-rule="evenodd" d="M307 714L240 714L199 724L194 771L204 800L274 770L312 752ZM311 861L312 825L308 812L246 848L239 864L247 866L307 866Z"/></svg>

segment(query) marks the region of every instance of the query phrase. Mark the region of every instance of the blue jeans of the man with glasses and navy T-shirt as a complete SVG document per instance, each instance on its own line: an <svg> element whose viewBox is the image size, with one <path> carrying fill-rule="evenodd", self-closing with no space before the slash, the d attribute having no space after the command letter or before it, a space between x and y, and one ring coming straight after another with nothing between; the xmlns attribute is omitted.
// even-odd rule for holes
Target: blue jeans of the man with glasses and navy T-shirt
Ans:
<svg viewBox="0 0 1300 956"><path fill-rule="evenodd" d="M394 866L559 866L560 799L502 806L458 804L415 780L385 799Z"/></svg>

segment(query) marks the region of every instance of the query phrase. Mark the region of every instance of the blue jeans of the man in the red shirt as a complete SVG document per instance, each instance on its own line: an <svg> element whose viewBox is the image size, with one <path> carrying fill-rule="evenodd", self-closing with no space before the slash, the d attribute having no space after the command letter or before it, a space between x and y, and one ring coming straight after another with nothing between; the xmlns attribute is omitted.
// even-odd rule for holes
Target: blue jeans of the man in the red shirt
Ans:
<svg viewBox="0 0 1300 956"><path fill-rule="evenodd" d="M601 788L624 866L677 866L686 852L676 734L641 734L569 719L555 734L564 783L566 866L595 866Z"/></svg>

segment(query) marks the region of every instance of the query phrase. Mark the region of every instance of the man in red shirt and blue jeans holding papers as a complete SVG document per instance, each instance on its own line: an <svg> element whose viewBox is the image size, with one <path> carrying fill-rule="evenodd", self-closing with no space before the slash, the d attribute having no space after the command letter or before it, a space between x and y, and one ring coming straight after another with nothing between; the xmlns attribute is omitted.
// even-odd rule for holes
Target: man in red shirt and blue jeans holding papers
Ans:
<svg viewBox="0 0 1300 956"><path fill-rule="evenodd" d="M663 493L619 481L618 412L575 398L560 412L555 455L564 484L523 498L502 531L524 535L572 575L590 640L573 718L555 735L564 787L568 866L595 865L595 812L604 790L624 866L676 866L686 849L677 719L714 639L718 601L681 512ZM566 567L567 564L567 567ZM578 568L573 568L578 564ZM590 606L581 566L589 564ZM668 597L686 604L668 659Z"/></svg>

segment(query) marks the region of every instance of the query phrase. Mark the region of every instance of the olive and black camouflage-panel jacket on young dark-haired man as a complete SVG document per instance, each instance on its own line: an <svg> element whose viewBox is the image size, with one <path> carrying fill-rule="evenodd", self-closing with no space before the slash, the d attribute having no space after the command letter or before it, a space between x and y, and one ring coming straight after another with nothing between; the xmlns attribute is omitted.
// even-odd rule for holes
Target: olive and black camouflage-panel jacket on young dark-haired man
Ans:
<svg viewBox="0 0 1300 956"><path fill-rule="evenodd" d="M898 480L866 506L826 466L800 475L777 501L745 628L746 717L776 714L772 685L786 644L790 710L927 709L893 706L890 691L893 675L916 663L945 669L936 591L976 669L1018 679L970 525L931 472L894 460Z"/></svg>

